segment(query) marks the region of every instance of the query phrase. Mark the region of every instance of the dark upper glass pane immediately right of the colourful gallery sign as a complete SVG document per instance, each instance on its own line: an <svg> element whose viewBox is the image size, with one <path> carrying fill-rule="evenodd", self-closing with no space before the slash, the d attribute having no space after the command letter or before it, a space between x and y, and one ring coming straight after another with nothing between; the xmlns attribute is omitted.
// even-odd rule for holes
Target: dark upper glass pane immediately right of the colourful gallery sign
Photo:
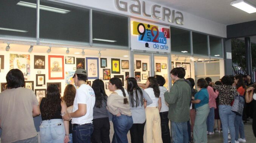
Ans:
<svg viewBox="0 0 256 143"><path fill-rule="evenodd" d="M190 31L170 27L171 29L171 52L190 55ZM183 51L183 52L182 52ZM187 53L184 53L186 52Z"/></svg>

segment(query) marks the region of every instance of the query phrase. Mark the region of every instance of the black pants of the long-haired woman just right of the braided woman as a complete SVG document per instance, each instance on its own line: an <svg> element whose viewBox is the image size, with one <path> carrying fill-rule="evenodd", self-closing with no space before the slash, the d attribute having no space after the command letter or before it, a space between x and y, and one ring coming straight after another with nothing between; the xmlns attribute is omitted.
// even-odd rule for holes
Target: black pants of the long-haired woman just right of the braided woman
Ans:
<svg viewBox="0 0 256 143"><path fill-rule="evenodd" d="M134 123L130 128L131 143L143 143L145 123Z"/></svg>

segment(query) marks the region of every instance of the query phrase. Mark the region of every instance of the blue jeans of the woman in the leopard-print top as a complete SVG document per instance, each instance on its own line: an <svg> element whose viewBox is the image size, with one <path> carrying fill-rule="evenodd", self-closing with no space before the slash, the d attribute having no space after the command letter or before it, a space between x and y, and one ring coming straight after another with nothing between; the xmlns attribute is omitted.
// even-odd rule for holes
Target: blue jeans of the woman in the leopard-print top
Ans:
<svg viewBox="0 0 256 143"><path fill-rule="evenodd" d="M222 132L223 132L223 142L228 142L228 128L230 130L231 143L235 140L235 128L234 119L236 114L231 111L231 106L229 105L219 105L219 116L221 118Z"/></svg>

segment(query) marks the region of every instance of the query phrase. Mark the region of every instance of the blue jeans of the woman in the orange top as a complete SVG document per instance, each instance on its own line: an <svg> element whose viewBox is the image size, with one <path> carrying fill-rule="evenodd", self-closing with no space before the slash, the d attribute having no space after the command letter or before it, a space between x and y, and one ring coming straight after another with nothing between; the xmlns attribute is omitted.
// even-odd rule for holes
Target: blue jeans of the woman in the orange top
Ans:
<svg viewBox="0 0 256 143"><path fill-rule="evenodd" d="M236 130L236 137L235 140L238 140L239 134L241 138L245 138L245 134L244 134L244 123L242 120L242 116L236 115L235 117L235 121L234 121L234 126L235 126L235 130Z"/></svg>

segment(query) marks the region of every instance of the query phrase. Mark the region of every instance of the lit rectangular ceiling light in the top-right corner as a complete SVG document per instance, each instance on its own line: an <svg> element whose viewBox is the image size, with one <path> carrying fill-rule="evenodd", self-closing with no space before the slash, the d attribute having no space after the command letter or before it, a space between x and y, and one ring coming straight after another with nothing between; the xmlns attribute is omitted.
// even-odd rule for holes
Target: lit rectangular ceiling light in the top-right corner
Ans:
<svg viewBox="0 0 256 143"><path fill-rule="evenodd" d="M234 0L230 3L230 5L249 14L256 12L256 7L246 2L245 0Z"/></svg>

